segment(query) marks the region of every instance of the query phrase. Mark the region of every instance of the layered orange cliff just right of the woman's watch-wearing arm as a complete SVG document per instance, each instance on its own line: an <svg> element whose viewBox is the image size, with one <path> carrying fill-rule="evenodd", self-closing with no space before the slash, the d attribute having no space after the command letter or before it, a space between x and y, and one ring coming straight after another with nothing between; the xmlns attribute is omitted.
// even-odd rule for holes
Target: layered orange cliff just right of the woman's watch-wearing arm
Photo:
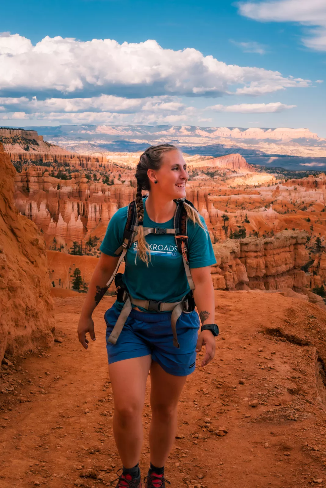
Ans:
<svg viewBox="0 0 326 488"><path fill-rule="evenodd" d="M282 231L272 238L249 237L213 244L217 264L211 267L215 289L302 291L310 275L301 270L309 261L306 233Z"/></svg>

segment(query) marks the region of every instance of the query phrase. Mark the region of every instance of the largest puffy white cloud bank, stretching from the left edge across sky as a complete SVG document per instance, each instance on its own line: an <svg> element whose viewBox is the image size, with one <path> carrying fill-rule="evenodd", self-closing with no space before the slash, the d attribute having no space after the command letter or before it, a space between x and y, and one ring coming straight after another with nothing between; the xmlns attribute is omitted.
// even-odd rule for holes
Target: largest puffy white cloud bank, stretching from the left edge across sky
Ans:
<svg viewBox="0 0 326 488"><path fill-rule="evenodd" d="M193 48L163 49L153 40L119 44L110 39L84 42L46 36L33 46L19 34L0 37L3 95L16 90L77 97L106 93L133 99L218 96L231 93L234 85L237 94L261 95L309 86L310 81L264 68L227 65Z"/></svg>

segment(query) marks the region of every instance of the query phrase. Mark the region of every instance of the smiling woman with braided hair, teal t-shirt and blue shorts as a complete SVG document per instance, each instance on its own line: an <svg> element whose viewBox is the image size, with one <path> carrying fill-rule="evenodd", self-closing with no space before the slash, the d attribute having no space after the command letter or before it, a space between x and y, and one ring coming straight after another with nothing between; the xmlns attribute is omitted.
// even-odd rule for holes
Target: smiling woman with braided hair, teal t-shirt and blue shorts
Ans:
<svg viewBox="0 0 326 488"><path fill-rule="evenodd" d="M176 201L184 199L188 180L182 153L171 144L147 148L137 165L136 179L138 242L126 252L123 285L130 296L138 300L137 303L144 304L142 300L164 302L164 305L180 303L190 287L183 256L175 247L173 231L158 231L159 235L144 237L144 229L173 228ZM142 197L142 190L148 191L147 198ZM180 348L175 347L172 312L148 311L148 307L133 303L114 344L110 335L124 303L116 301L104 316L114 397L113 432L122 460L122 473L116 488L142 487L138 461L143 443L142 411L148 372L152 420L150 468L144 482L146 488L165 488L165 482L169 482L164 479L164 464L175 438L177 405L187 375L195 369L196 353L203 345L206 352L202 366L207 365L215 354L218 328L212 324L215 307L210 265L216 261L204 219L190 205L184 203L184 207L188 215L189 279L192 278L195 286L193 296L202 325L207 328L198 336L200 323L196 310L182 312L176 323ZM89 284L78 325L79 340L85 349L88 347L86 333L95 341L92 312L118 263L119 256L115 252L122 245L126 221L127 207L123 207L110 220L100 247L102 254Z"/></svg>

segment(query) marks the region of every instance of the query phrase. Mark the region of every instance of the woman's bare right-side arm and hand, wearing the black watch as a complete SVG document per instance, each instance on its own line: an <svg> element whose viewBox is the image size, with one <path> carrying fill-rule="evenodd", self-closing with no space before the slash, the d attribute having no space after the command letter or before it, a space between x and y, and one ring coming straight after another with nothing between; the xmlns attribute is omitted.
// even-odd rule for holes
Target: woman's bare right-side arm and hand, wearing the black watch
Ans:
<svg viewBox="0 0 326 488"><path fill-rule="evenodd" d="M190 269L195 289L193 290L195 303L202 325L214 324L215 303L214 288L210 275L210 266ZM215 337L210 330L203 330L198 336L196 352L206 347L202 366L206 366L215 356Z"/></svg>

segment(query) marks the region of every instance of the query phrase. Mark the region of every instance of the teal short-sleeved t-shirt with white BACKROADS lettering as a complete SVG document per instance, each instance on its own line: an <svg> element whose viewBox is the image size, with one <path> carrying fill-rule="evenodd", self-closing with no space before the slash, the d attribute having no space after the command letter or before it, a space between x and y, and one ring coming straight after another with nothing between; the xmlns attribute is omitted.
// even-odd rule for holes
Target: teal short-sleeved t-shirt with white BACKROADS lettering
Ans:
<svg viewBox="0 0 326 488"><path fill-rule="evenodd" d="M158 224L149 219L145 200L144 227L173 229L173 219ZM207 229L204 218L200 219ZM122 245L123 231L127 221L127 207L120 208L111 218L100 246L109 256L117 256L115 251ZM177 249L173 234L149 234L145 237L151 250L151 262L144 263L139 256L135 263L137 242L133 243L125 255L123 283L133 298L155 302L178 302L190 291L185 274L183 259ZM207 231L188 220L188 261L190 268L200 268L215 264L212 243Z"/></svg>

